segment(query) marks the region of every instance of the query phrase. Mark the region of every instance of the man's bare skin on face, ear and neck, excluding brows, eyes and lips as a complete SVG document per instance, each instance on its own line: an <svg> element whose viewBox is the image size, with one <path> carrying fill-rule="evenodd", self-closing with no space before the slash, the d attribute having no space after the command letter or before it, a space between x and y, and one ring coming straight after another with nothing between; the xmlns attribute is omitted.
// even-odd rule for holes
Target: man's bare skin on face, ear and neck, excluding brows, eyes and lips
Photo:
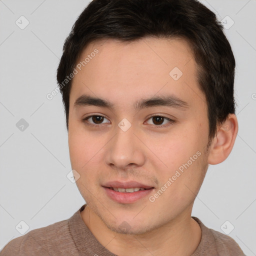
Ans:
<svg viewBox="0 0 256 256"><path fill-rule="evenodd" d="M87 204L81 217L96 239L119 256L191 255L201 238L201 229L191 218L195 196L208 164L219 163L230 153L237 119L230 114L218 125L207 148L206 99L185 40L105 39L87 45L77 63L95 48L99 52L72 80L69 102L70 161L80 175L76 184ZM176 81L169 75L173 67L183 73ZM115 108L75 107L82 94L107 99ZM153 106L138 111L132 106L141 98L167 94L185 101L187 107ZM153 122L150 117L155 114L174 122ZM96 123L92 118L82 120L90 115L105 118ZM118 127L123 118L131 123L127 131ZM133 203L118 203L101 186L110 180L136 180L153 186L153 195L197 151L200 156L154 202L145 196ZM126 230L119 229L123 221L128 223Z"/></svg>

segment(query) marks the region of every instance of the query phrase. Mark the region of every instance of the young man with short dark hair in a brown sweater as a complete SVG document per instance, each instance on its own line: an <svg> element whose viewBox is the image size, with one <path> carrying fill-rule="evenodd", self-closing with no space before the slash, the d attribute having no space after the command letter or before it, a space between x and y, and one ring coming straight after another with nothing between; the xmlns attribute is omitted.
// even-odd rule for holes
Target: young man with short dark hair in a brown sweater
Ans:
<svg viewBox="0 0 256 256"><path fill-rule="evenodd" d="M208 164L237 134L234 66L215 14L195 0L93 0L57 70L86 204L0 255L244 255L191 217Z"/></svg>

